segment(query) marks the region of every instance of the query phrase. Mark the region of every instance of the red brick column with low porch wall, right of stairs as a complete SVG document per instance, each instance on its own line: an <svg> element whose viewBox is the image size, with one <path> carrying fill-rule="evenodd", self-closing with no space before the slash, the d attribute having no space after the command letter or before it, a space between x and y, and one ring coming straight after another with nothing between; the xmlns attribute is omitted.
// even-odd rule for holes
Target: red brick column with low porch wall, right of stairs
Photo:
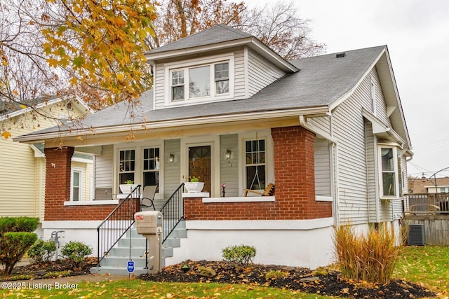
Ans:
<svg viewBox="0 0 449 299"><path fill-rule="evenodd" d="M315 134L303 127L272 128L275 202L203 204L185 198L187 220L295 220L332 216L331 202L315 200Z"/></svg>

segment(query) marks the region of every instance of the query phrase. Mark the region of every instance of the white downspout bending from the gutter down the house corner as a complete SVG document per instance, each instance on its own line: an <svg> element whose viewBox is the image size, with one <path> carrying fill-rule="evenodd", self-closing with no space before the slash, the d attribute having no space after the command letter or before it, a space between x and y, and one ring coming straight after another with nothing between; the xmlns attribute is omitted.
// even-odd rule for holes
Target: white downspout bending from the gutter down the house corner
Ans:
<svg viewBox="0 0 449 299"><path fill-rule="evenodd" d="M338 142L337 139L332 137L333 133L333 118L332 114L328 113L328 116L330 118L330 134L324 132L323 130L319 129L319 127L315 127L314 125L311 125L307 123L307 120L303 115L299 116L300 125L301 127L304 127L304 129L307 129L311 132L314 132L315 134L319 135L320 137L328 140L331 147L331 155L330 155L330 172L332 175L332 179L330 181L331 186L331 195L334 198L333 201L333 218L334 218L334 225L338 225L340 223L340 197L338 192Z"/></svg>

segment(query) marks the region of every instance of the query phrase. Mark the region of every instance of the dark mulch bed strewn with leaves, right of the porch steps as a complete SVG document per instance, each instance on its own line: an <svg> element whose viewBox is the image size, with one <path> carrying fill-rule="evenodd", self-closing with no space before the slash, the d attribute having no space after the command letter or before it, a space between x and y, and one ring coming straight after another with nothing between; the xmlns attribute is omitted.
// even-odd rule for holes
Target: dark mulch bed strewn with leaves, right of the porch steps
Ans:
<svg viewBox="0 0 449 299"><path fill-rule="evenodd" d="M182 271L182 265L189 265L190 270ZM199 267L211 267L214 277L202 277L197 274ZM287 272L286 277L267 279L265 274L279 270ZM225 261L210 262L206 260L190 261L164 267L159 274L142 274L140 279L149 281L171 282L220 282L228 284L251 284L290 288L306 293L333 295L349 298L423 298L434 297L436 293L402 279L394 279L389 284L355 283L341 278L340 272L330 270L317 274L302 267L285 267L277 265L250 265L236 267Z"/></svg>

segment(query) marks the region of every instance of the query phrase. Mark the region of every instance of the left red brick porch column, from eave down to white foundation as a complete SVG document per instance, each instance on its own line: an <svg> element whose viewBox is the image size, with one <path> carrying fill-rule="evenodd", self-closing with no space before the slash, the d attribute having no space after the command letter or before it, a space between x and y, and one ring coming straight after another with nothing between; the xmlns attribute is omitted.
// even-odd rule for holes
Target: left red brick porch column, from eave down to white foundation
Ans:
<svg viewBox="0 0 449 299"><path fill-rule="evenodd" d="M46 183L44 220L64 220L64 202L70 200L74 148L45 148Z"/></svg>

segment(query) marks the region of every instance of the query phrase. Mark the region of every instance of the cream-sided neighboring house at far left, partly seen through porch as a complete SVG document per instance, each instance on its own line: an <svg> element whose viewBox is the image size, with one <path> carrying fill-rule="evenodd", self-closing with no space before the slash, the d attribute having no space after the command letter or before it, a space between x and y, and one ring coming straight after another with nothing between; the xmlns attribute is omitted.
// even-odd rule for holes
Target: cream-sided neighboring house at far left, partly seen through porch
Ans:
<svg viewBox="0 0 449 299"><path fill-rule="evenodd" d="M0 122L4 130L14 138L38 129L62 125L69 119L93 112L81 99L67 97L38 99L34 109L36 112L31 108L0 102ZM13 138L0 139L0 216L29 216L43 220L46 186L43 141L22 144L13 141ZM84 179L88 179L93 171L93 155L74 155L72 167L74 172L83 169L86 174ZM81 183L83 192L88 193L91 182L86 180ZM88 194L80 196L90 198Z"/></svg>

